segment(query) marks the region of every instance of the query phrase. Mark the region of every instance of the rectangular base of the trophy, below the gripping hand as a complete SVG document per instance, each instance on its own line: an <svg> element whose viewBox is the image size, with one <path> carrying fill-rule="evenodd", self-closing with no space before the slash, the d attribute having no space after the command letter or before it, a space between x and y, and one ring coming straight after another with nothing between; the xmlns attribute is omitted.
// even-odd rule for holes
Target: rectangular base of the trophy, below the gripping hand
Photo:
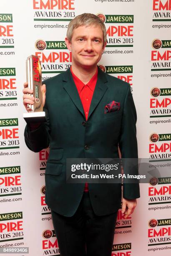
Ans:
<svg viewBox="0 0 171 256"><path fill-rule="evenodd" d="M46 122L44 111L24 113L23 118L24 118L26 123L43 123L43 122Z"/></svg>

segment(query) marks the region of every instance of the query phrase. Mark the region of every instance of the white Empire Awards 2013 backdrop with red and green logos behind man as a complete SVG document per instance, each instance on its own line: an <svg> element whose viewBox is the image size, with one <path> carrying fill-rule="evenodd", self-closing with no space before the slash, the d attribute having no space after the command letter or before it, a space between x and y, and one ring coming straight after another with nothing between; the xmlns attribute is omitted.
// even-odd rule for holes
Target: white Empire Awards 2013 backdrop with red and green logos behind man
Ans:
<svg viewBox="0 0 171 256"><path fill-rule="evenodd" d="M148 158L154 175L158 166L171 168L171 0L1 0L0 248L29 247L16 255L60 255L45 204L48 149L33 153L23 137L25 60L39 56L43 80L68 69L67 26L84 12L106 25L99 65L131 85L139 157ZM118 211L112 256L170 255L170 184L171 175L141 184L131 217Z"/></svg>

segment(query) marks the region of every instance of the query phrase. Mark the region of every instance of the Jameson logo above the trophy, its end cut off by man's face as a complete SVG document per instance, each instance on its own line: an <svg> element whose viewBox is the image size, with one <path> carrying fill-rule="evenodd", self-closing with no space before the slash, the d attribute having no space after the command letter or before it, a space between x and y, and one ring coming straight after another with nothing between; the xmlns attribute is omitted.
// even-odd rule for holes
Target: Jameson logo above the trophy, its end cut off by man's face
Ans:
<svg viewBox="0 0 171 256"><path fill-rule="evenodd" d="M43 51L45 49L67 49L65 41L38 40L35 43L35 47L39 51Z"/></svg>

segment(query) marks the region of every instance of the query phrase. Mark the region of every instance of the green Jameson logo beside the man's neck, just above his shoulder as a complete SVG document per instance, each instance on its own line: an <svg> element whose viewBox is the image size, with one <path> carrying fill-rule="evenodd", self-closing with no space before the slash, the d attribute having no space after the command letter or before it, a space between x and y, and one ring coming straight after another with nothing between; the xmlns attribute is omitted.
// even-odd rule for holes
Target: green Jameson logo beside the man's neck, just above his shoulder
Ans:
<svg viewBox="0 0 171 256"><path fill-rule="evenodd" d="M103 72L108 74L133 73L133 66L103 66L99 65Z"/></svg>

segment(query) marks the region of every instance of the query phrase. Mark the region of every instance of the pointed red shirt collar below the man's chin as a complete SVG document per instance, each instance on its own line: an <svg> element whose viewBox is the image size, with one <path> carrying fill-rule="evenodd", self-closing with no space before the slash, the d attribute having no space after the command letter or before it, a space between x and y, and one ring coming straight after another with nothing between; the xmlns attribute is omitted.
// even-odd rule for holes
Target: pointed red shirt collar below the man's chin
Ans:
<svg viewBox="0 0 171 256"><path fill-rule="evenodd" d="M81 90L83 90L83 87L85 84L73 73L72 66L70 67L70 72L72 74L73 80L75 82L75 85L78 90L78 94L80 94ZM88 87L94 92L94 89L96 87L96 82L98 78L98 67L96 70L96 73L91 77L90 81L87 83Z"/></svg>

